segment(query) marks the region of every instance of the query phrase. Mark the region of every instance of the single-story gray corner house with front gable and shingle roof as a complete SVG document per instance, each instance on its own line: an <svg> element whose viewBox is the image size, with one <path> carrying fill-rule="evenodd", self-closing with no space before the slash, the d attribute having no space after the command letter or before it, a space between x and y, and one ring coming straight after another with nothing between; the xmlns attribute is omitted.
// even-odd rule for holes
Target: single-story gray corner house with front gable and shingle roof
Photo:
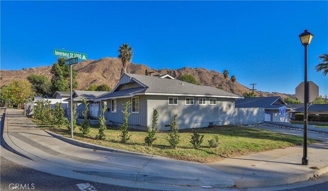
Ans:
<svg viewBox="0 0 328 191"><path fill-rule="evenodd" d="M106 120L123 122L122 105L131 102L129 126L146 130L157 109L158 130L169 130L174 114L179 129L234 124L235 99L241 96L215 87L194 85L170 75L124 74L112 92L94 99L107 107Z"/></svg>

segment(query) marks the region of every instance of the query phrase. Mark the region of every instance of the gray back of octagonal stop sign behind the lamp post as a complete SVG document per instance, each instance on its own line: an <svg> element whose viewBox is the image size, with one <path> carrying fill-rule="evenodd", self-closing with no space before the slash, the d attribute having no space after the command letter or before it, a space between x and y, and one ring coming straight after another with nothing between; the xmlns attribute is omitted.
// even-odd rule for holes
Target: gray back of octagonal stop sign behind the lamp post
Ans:
<svg viewBox="0 0 328 191"><path fill-rule="evenodd" d="M316 98L319 97L319 86L312 81L308 82L308 98L309 103L313 102ZM304 103L304 82L301 82L295 89L296 98Z"/></svg>

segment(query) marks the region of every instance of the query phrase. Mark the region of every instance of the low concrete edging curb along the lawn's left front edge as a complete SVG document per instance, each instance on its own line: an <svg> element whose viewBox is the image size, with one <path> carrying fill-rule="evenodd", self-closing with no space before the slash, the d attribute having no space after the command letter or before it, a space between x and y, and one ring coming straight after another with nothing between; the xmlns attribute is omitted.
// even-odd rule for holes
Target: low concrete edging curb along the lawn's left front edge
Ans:
<svg viewBox="0 0 328 191"><path fill-rule="evenodd" d="M124 151L124 150L99 146L99 145L95 145L95 144L90 144L88 142L84 142L84 141L76 140L73 138L65 137L63 135L59 135L59 134L51 132L49 130L44 130L44 131L59 140L63 140L65 142L67 142L71 145L75 145L77 147L83 147L83 148L87 148L87 149L95 149L95 150L99 150L99 151L108 151L108 152L114 152L114 153L129 154L129 155L138 155L138 156L147 156L147 157L155 156L155 155L151 155L151 154L137 153L137 152L132 152L132 151ZM158 157L160 157L160 156L158 156Z"/></svg>

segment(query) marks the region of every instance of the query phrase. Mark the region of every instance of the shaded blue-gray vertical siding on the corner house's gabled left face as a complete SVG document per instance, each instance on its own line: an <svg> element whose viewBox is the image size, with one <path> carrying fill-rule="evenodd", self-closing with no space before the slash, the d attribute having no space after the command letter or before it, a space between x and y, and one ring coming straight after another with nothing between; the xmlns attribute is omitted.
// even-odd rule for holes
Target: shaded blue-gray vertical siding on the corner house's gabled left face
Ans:
<svg viewBox="0 0 328 191"><path fill-rule="evenodd" d="M136 128L140 130L147 129L147 101L145 96L136 96L139 97L139 113L132 113L132 108L129 108L131 113L129 116L129 126L131 128ZM133 97L135 98L135 97ZM132 102L132 98L121 98L116 99L116 112L112 112L111 100L107 100L107 107L110 108L109 112L106 112L106 120L115 124L122 124L124 115L122 113L123 106L128 101Z"/></svg>

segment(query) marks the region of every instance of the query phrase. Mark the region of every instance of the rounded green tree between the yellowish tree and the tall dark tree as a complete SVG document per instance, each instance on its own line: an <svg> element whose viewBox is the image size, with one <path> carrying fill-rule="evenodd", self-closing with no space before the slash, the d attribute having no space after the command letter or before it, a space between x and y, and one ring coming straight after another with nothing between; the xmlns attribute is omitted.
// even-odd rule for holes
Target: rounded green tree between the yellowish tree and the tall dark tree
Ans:
<svg viewBox="0 0 328 191"><path fill-rule="evenodd" d="M45 75L30 74L27 80L32 84L32 89L39 96L51 93L51 83Z"/></svg>

